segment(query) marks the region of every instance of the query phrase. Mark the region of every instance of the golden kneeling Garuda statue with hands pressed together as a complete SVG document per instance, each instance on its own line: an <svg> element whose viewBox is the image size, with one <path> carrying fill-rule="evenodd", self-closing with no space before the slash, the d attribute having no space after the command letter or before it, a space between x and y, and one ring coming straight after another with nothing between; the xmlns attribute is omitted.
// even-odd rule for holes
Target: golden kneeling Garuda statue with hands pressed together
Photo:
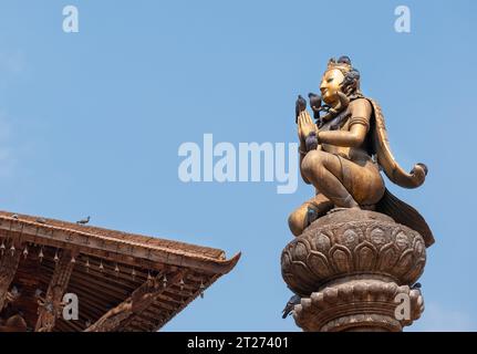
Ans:
<svg viewBox="0 0 477 354"><path fill-rule="evenodd" d="M406 173L391 153L380 105L360 90L360 72L348 56L331 59L320 84L321 96L299 96L295 106L300 139L300 171L315 188L315 196L289 217L299 236L332 209L360 208L386 214L418 231L426 246L434 237L424 218L385 187L380 170L404 188L419 187L427 175L424 164ZM314 122L313 122L314 119Z"/></svg>

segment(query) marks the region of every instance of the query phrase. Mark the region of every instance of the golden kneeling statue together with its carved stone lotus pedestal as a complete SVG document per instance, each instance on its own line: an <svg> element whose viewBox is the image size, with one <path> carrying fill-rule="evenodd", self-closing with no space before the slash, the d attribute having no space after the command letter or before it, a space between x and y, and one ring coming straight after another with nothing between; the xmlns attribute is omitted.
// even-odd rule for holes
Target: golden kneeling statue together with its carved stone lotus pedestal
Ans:
<svg viewBox="0 0 477 354"><path fill-rule="evenodd" d="M308 95L312 115L302 96L295 104L300 171L315 195L289 217L297 237L282 251L281 272L294 295L282 317L292 314L303 331L398 332L424 311L416 281L434 237L381 170L416 188L427 167L406 173L397 164L381 107L362 94L348 56L330 60L320 91Z"/></svg>

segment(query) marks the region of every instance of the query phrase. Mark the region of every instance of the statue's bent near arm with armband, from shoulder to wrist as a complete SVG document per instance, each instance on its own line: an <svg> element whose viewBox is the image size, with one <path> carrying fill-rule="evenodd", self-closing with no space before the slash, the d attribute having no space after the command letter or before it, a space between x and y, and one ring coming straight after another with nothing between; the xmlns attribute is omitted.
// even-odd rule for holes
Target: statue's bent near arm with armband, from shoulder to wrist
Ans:
<svg viewBox="0 0 477 354"><path fill-rule="evenodd" d="M350 103L350 131L319 132L319 142L343 147L360 147L370 129L372 107L370 102L359 98Z"/></svg>

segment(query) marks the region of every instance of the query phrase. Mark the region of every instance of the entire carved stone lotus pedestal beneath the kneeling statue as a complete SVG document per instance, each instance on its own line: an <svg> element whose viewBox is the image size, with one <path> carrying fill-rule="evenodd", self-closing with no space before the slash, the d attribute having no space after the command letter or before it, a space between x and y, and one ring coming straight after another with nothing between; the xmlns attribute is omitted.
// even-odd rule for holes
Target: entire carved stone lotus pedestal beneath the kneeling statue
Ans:
<svg viewBox="0 0 477 354"><path fill-rule="evenodd" d="M426 262L422 236L383 214L345 209L314 221L281 256L301 296L303 331L402 331L424 311L412 285Z"/></svg>

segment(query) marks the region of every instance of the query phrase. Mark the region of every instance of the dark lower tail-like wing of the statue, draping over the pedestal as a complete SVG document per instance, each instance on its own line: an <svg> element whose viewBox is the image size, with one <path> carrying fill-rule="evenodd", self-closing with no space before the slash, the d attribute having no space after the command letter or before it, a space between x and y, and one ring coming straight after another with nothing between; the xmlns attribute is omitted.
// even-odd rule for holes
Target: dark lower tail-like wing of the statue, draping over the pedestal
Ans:
<svg viewBox="0 0 477 354"><path fill-rule="evenodd" d="M424 243L429 247L434 243L433 231L422 215L412 206L405 204L391 191L385 190L383 198L376 205L376 211L383 212L394 219L394 221L405 225L417 231L424 238Z"/></svg>

